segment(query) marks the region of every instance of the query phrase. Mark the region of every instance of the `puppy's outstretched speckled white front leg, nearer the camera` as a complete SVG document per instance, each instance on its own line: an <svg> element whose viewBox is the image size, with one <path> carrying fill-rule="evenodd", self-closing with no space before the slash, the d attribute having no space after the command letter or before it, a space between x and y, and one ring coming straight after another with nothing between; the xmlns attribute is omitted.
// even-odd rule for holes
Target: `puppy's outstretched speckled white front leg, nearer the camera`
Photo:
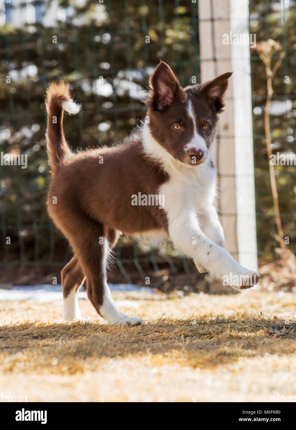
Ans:
<svg viewBox="0 0 296 430"><path fill-rule="evenodd" d="M198 261L217 279L228 284L232 279L239 279L238 287L253 286L258 282L258 273L240 266L229 252L204 234L194 208L183 209L171 218L168 213L168 222L170 238L176 248Z"/></svg>

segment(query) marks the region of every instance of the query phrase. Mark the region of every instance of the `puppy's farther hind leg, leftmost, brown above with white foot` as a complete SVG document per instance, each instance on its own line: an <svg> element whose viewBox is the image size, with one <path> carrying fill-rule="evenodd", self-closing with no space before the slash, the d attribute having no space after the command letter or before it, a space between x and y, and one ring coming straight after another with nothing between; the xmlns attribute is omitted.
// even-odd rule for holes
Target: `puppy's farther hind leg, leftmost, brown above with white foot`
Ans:
<svg viewBox="0 0 296 430"><path fill-rule="evenodd" d="M68 319L82 319L78 304L78 290L83 284L85 276L75 255L63 268L61 277L64 296L64 319L66 321Z"/></svg>

